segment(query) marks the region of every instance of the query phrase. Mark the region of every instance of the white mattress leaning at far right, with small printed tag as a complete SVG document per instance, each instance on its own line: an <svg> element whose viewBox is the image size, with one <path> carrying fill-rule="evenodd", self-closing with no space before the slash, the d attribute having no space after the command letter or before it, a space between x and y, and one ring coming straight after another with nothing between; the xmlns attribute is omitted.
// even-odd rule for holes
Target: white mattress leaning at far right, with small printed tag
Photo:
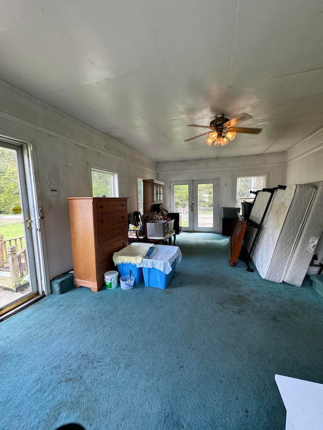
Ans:
<svg viewBox="0 0 323 430"><path fill-rule="evenodd" d="M283 281L300 287L323 232L323 182L317 187L314 202L306 219Z"/></svg>

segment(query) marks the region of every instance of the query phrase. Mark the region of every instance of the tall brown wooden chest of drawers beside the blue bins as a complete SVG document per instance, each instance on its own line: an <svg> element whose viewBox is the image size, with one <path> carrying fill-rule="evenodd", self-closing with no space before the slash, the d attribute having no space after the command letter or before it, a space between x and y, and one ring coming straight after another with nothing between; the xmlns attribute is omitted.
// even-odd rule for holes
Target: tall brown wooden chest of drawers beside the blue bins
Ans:
<svg viewBox="0 0 323 430"><path fill-rule="evenodd" d="M69 197L74 286L99 291L128 245L127 198Z"/></svg>

